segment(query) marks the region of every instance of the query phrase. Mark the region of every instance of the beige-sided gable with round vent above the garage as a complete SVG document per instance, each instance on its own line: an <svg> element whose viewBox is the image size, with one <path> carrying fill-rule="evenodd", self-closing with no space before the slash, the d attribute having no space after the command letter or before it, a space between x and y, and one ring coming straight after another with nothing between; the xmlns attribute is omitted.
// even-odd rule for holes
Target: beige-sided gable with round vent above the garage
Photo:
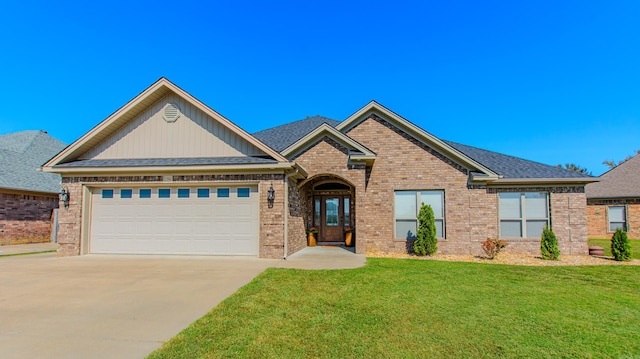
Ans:
<svg viewBox="0 0 640 359"><path fill-rule="evenodd" d="M176 105L180 117L167 118L171 117L172 109L166 107L169 104ZM175 143L189 139L194 141L186 147ZM170 146L180 148L169 149ZM47 162L44 169L79 159L255 155L286 162L278 152L161 78Z"/></svg>

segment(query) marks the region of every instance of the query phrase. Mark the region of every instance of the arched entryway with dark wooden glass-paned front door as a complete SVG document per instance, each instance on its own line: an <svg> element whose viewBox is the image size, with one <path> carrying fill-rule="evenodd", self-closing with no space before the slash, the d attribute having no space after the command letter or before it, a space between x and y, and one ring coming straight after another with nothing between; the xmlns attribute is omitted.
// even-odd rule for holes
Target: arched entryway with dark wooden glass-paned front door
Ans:
<svg viewBox="0 0 640 359"><path fill-rule="evenodd" d="M354 186L337 176L319 176L309 181L311 227L318 229L318 243L342 244L345 232L355 225Z"/></svg>

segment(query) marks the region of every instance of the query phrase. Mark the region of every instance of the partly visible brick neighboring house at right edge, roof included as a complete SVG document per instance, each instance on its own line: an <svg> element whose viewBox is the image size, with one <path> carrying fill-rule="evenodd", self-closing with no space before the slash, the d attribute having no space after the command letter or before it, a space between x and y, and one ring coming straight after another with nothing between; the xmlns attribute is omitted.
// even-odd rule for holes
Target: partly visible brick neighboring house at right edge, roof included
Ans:
<svg viewBox="0 0 640 359"><path fill-rule="evenodd" d="M611 238L622 228L640 239L640 155L587 186L587 228L591 238Z"/></svg>

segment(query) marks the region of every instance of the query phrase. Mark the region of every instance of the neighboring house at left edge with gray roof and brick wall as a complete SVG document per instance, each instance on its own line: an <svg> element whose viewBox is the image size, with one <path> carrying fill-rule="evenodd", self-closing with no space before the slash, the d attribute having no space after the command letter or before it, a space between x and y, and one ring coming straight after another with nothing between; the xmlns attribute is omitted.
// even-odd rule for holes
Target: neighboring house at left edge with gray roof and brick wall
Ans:
<svg viewBox="0 0 640 359"><path fill-rule="evenodd" d="M0 135L0 245L50 240L61 178L38 169L65 146L45 131Z"/></svg>

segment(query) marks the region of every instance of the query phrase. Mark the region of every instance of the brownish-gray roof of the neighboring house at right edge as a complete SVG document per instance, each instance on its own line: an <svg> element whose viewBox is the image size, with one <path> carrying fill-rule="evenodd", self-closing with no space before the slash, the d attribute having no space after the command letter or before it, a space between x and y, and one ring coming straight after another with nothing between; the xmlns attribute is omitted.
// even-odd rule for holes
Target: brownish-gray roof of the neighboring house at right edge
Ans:
<svg viewBox="0 0 640 359"><path fill-rule="evenodd" d="M586 187L587 198L640 197L640 155L636 155L600 176L600 182Z"/></svg>

